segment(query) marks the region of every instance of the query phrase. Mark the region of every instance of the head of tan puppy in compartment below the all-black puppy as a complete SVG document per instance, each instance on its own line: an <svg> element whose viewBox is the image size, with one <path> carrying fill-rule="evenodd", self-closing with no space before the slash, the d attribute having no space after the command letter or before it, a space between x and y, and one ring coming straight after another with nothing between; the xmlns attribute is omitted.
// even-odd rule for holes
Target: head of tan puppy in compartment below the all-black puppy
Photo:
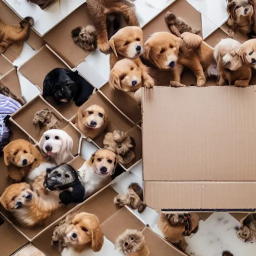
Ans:
<svg viewBox="0 0 256 256"><path fill-rule="evenodd" d="M80 108L77 112L77 118L83 126L90 129L99 129L107 121L105 110L99 105L90 105L86 109Z"/></svg>

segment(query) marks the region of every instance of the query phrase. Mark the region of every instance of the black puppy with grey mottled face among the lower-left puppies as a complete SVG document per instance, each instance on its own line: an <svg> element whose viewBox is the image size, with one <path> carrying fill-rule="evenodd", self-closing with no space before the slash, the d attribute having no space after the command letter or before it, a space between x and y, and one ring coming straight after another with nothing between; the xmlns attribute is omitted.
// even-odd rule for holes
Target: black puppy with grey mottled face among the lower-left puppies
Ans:
<svg viewBox="0 0 256 256"><path fill-rule="evenodd" d="M59 194L63 204L82 202L85 198L85 186L77 171L69 164L47 168L43 186L49 190L64 190Z"/></svg>

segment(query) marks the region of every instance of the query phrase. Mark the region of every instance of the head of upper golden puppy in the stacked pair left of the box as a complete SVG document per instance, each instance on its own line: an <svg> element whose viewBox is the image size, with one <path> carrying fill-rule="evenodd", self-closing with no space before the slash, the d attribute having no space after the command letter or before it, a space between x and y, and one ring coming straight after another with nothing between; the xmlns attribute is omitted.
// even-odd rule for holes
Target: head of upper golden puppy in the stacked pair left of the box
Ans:
<svg viewBox="0 0 256 256"><path fill-rule="evenodd" d="M109 44L116 57L119 54L126 58L136 58L143 51L142 29L139 26L125 26L110 38Z"/></svg>

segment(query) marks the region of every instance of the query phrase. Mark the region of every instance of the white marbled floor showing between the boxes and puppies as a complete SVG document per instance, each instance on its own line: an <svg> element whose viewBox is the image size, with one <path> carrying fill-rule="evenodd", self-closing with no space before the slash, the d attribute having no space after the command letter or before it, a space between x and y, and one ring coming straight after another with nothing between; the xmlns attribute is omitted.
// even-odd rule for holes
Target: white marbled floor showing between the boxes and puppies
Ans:
<svg viewBox="0 0 256 256"><path fill-rule="evenodd" d="M47 14L42 14L39 7L28 3L27 0L6 0L12 6L17 7L21 16L33 13L36 23L35 28L41 33L45 33L55 23L62 19L66 14L78 7L85 0L61 0L61 13L58 3L55 3ZM141 25L148 22L153 16L161 11L168 3L173 0L135 0L136 10ZM196 9L202 12L203 37L206 37L217 25L222 24L227 19L225 10L225 0L187 0ZM23 8L22 6L26 6ZM43 22L42 22L43 20ZM47 22L45 22L47 20ZM35 53L29 45L24 44L21 55L13 64L20 66ZM90 54L85 61L77 66L78 71L89 80L95 87L100 88L107 80L109 74L109 56L98 50ZM31 84L25 77L18 73L21 90L27 100L32 99L39 93L39 90ZM90 142L83 140L81 155L87 159L97 147ZM124 193L130 182L142 184L142 162L137 163L130 172L122 173L112 187L117 192ZM139 214L134 211L140 219L162 235L156 226L158 214L150 209ZM228 213L214 213L205 222L200 221L198 232L191 238L187 238L187 254L193 256L221 256L223 250L230 250L234 256L255 256L256 244L244 243L235 234L235 226L239 222ZM103 249L97 255L119 255L114 250L113 244L107 239L104 240ZM91 250L86 251L86 255L94 255Z"/></svg>

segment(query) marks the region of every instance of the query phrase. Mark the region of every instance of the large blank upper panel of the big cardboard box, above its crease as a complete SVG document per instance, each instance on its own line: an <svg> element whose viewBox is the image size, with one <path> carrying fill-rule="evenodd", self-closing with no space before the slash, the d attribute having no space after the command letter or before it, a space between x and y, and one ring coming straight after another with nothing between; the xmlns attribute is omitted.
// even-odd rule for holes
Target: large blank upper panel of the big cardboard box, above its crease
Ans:
<svg viewBox="0 0 256 256"><path fill-rule="evenodd" d="M256 181L255 113L254 86L144 90L144 181Z"/></svg>

